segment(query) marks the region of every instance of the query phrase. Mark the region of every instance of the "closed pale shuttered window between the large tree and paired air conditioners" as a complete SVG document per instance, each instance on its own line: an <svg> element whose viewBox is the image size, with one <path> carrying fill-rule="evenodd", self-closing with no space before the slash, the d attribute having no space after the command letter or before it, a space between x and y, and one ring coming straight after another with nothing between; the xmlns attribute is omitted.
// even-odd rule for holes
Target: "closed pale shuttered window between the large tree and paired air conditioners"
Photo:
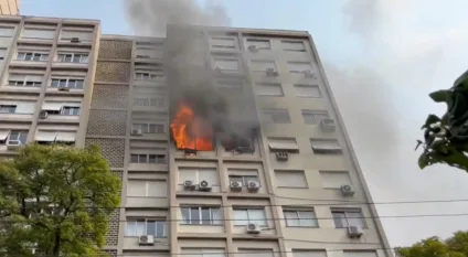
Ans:
<svg viewBox="0 0 468 257"><path fill-rule="evenodd" d="M168 182L156 180L128 180L127 196L129 197L167 197Z"/></svg>

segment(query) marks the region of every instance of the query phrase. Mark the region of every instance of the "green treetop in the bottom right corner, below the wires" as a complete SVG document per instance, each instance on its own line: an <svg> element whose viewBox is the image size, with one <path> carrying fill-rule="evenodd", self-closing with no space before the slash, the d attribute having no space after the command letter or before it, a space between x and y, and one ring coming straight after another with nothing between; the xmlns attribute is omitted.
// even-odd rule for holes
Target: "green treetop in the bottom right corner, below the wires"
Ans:
<svg viewBox="0 0 468 257"><path fill-rule="evenodd" d="M456 232L445 240L429 237L395 251L401 257L468 257L468 232Z"/></svg>

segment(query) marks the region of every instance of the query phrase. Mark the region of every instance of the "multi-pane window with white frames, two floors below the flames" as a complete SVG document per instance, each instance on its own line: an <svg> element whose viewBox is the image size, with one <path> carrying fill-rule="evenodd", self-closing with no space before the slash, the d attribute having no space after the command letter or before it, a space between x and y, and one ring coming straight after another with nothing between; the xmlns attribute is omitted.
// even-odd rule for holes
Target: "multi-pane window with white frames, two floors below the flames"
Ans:
<svg viewBox="0 0 468 257"><path fill-rule="evenodd" d="M181 207L182 224L221 225L223 217L219 207Z"/></svg>

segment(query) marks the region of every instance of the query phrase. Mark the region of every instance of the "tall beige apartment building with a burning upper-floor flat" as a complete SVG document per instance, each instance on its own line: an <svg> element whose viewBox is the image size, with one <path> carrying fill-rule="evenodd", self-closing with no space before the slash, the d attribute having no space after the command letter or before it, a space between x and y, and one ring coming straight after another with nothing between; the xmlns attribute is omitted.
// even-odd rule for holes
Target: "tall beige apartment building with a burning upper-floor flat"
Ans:
<svg viewBox="0 0 468 257"><path fill-rule="evenodd" d="M102 35L92 20L0 23L0 156L99 144L124 182L111 256L392 255L308 32L169 26L157 39ZM187 65L172 65L181 42ZM174 95L191 84L235 106L221 118L232 128L249 117L251 136L178 141Z"/></svg>

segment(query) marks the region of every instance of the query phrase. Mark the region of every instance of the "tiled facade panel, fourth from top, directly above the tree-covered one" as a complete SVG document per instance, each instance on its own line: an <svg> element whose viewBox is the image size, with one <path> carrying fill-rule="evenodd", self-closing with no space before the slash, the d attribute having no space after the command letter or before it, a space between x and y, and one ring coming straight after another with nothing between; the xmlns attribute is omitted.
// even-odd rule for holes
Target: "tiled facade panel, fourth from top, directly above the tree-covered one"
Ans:
<svg viewBox="0 0 468 257"><path fill-rule="evenodd" d="M125 136L126 127L126 110L92 109L89 111L88 135Z"/></svg>

